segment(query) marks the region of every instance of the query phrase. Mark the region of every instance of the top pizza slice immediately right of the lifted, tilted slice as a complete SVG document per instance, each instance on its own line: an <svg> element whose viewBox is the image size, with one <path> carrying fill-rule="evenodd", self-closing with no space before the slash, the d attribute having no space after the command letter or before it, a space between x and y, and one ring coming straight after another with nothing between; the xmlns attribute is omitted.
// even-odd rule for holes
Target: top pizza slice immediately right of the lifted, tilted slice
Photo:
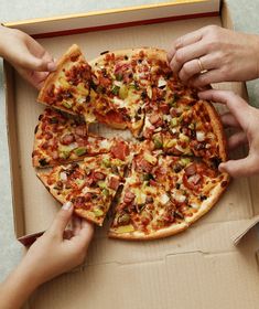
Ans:
<svg viewBox="0 0 259 309"><path fill-rule="evenodd" d="M119 129L130 129L138 137L143 126L143 106L149 99L145 85L150 65L143 50L107 52L90 62L91 97L98 121Z"/></svg>

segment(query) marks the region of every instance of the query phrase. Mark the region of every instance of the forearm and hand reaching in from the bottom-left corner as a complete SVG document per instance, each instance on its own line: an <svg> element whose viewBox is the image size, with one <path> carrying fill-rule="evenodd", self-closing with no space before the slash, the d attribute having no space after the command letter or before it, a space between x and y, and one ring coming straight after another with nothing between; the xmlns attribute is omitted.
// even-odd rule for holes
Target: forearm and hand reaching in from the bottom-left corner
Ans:
<svg viewBox="0 0 259 309"><path fill-rule="evenodd" d="M66 203L51 227L28 251L20 265L0 285L2 309L17 309L43 283L82 264L93 237L93 224L73 219L73 231L65 230L73 214Z"/></svg>

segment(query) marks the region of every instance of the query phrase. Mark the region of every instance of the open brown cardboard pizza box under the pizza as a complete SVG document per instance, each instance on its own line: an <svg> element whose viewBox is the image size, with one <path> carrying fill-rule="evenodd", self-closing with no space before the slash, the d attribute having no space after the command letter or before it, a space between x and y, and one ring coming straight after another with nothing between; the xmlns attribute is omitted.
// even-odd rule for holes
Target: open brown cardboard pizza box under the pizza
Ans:
<svg viewBox="0 0 259 309"><path fill-rule="evenodd" d="M224 1L174 1L6 25L33 35L55 57L77 43L91 60L107 50L168 50L175 38L207 24L233 28ZM31 164L33 130L44 107L8 63L4 75L13 220L17 238L26 245L48 227L60 204ZM217 87L246 96L239 83ZM26 308L258 308L259 242L250 230L259 214L257 189L256 177L233 180L207 215L164 239L109 239L107 223L96 227L85 264L40 287Z"/></svg>

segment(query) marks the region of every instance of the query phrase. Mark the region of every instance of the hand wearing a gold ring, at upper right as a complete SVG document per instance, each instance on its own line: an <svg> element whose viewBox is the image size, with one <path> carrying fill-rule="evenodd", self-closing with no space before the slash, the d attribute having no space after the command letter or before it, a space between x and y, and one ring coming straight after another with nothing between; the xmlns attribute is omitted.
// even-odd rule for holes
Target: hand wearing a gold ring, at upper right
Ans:
<svg viewBox="0 0 259 309"><path fill-rule="evenodd" d="M194 87L253 79L259 76L259 35L204 26L175 40L168 60L173 72Z"/></svg>

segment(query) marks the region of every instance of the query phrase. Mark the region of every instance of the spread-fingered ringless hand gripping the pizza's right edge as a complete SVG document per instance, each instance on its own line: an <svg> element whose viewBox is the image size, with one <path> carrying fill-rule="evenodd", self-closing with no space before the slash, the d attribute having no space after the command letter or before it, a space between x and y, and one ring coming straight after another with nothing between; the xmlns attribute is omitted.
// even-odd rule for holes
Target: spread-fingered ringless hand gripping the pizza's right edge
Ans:
<svg viewBox="0 0 259 309"><path fill-rule="evenodd" d="M231 92L206 90L198 94L201 99L226 104L230 113L223 115L223 124L239 129L228 139L229 149L248 142L249 153L239 160L229 160L219 164L219 171L233 177L259 173L259 109L248 105L241 97Z"/></svg>

